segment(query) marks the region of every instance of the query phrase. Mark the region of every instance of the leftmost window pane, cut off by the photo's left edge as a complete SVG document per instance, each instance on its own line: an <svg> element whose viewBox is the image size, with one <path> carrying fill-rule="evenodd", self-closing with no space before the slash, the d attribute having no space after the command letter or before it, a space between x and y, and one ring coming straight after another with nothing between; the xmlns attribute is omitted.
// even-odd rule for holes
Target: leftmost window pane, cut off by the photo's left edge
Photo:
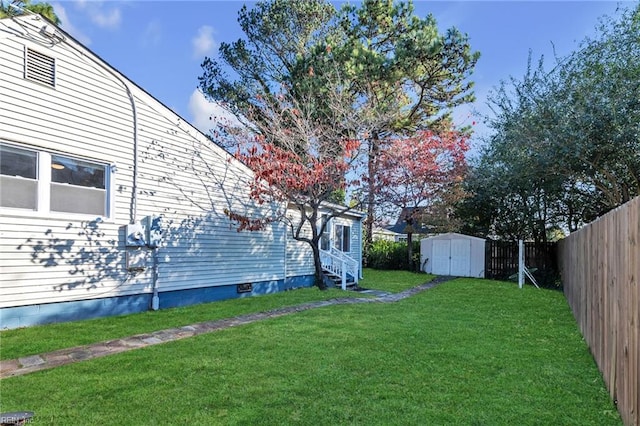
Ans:
<svg viewBox="0 0 640 426"><path fill-rule="evenodd" d="M38 154L0 145L0 207L35 210Z"/></svg>

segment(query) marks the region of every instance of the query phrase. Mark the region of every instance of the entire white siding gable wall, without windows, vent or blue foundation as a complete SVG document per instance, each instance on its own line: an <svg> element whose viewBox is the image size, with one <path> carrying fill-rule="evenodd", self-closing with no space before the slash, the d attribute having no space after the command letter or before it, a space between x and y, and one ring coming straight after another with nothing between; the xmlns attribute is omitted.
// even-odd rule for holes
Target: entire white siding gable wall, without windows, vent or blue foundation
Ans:
<svg viewBox="0 0 640 426"><path fill-rule="evenodd" d="M125 87L90 53L67 43L43 47L16 30L23 31L0 21L0 140L115 164L115 211L103 219L0 211L0 307L150 292L151 268L126 270L134 137ZM55 88L23 78L25 45L56 58ZM224 214L230 207L256 211L247 196L249 171L131 86L136 219L161 214L165 224L160 291L284 278L284 227L238 233ZM289 265L294 261L292 255Z"/></svg>

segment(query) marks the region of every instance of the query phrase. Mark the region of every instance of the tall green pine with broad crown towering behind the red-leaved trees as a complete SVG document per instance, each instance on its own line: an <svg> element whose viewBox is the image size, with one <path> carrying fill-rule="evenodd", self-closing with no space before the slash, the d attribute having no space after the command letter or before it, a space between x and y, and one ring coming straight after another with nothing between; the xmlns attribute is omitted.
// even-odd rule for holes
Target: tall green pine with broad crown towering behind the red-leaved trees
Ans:
<svg viewBox="0 0 640 426"><path fill-rule="evenodd" d="M431 15L416 16L412 3L366 0L336 11L321 0L271 0L243 7L238 22L245 37L223 43L218 58L205 59L202 92L244 125L261 128L274 117L262 114L260 105L273 104L284 89L313 105L307 111L316 124L331 124L344 138L361 141L366 155L359 199L367 204L369 228L385 141L439 130L453 108L473 99L468 77L478 53L466 35L455 29L440 34ZM350 108L339 115L351 120L319 121L335 115L336 105ZM218 130L221 137L232 132L225 125ZM298 153L307 146L288 144Z"/></svg>

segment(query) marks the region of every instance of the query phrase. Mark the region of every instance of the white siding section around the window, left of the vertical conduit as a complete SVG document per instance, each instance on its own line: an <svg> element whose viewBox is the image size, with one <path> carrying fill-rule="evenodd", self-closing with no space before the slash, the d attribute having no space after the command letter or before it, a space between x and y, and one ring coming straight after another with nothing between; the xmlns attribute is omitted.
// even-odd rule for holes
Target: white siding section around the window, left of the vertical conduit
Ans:
<svg viewBox="0 0 640 426"><path fill-rule="evenodd" d="M39 22L42 24L42 21ZM130 187L132 115L113 78L63 46L46 47L7 32L0 22L0 140L118 165L116 187ZM27 25L28 26L28 25ZM56 58L56 87L23 78L25 46ZM0 214L0 307L135 294L150 274L125 268L121 223L70 214Z"/></svg>

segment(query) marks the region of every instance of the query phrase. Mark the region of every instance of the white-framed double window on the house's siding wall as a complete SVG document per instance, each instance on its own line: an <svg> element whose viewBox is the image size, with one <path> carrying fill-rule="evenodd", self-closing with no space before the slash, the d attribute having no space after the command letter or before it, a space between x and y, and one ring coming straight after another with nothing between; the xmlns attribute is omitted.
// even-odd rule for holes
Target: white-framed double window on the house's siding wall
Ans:
<svg viewBox="0 0 640 426"><path fill-rule="evenodd" d="M110 216L105 163L0 143L0 208Z"/></svg>

